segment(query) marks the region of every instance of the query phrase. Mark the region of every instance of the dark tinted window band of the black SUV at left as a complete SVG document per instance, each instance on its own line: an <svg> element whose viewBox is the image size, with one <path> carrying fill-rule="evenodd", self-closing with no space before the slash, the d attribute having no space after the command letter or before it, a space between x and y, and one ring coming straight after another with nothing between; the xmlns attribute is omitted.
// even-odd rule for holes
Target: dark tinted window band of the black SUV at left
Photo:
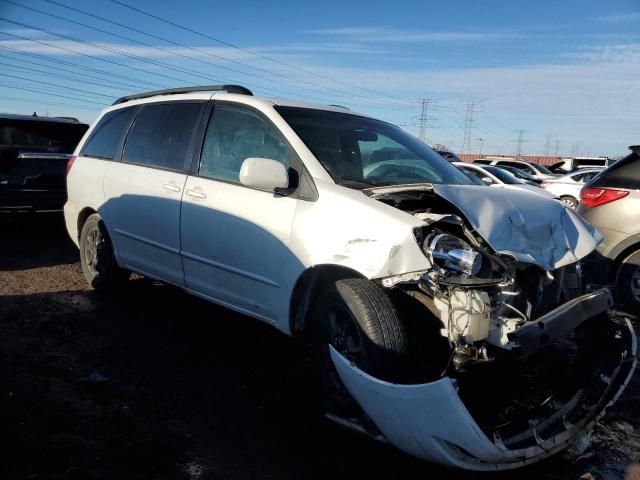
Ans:
<svg viewBox="0 0 640 480"><path fill-rule="evenodd" d="M83 123L0 120L0 146L55 148L72 152L87 131Z"/></svg>

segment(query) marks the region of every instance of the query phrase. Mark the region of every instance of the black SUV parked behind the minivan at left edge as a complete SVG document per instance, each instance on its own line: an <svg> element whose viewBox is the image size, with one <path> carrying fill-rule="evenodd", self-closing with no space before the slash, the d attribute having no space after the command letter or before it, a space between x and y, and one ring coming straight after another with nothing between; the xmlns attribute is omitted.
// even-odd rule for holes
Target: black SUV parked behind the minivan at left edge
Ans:
<svg viewBox="0 0 640 480"><path fill-rule="evenodd" d="M88 128L75 118L0 114L0 212L61 210L67 162Z"/></svg>

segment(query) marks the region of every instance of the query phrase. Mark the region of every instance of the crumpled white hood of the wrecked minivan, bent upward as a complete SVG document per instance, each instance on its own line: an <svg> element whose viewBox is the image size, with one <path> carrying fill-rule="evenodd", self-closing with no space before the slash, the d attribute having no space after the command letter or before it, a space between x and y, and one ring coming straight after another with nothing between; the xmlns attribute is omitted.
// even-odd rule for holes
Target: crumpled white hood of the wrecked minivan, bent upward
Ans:
<svg viewBox="0 0 640 480"><path fill-rule="evenodd" d="M433 185L498 253L555 270L585 257L602 241L577 213L527 191Z"/></svg>

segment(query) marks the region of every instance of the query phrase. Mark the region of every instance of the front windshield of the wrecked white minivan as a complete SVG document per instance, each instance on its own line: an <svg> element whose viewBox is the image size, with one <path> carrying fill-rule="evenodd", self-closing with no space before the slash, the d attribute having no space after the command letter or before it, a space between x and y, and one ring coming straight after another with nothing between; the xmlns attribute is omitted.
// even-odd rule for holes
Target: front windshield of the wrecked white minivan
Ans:
<svg viewBox="0 0 640 480"><path fill-rule="evenodd" d="M361 189L411 183L471 183L427 145L391 124L326 110L276 110L339 185Z"/></svg>

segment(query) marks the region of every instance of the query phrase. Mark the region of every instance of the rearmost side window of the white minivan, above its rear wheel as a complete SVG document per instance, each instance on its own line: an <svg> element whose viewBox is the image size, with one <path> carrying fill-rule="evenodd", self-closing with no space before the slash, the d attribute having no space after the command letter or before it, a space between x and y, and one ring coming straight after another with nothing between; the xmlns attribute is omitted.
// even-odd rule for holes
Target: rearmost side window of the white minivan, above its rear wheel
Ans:
<svg viewBox="0 0 640 480"><path fill-rule="evenodd" d="M81 155L113 160L134 111L135 108L129 107L105 114L84 144Z"/></svg>

